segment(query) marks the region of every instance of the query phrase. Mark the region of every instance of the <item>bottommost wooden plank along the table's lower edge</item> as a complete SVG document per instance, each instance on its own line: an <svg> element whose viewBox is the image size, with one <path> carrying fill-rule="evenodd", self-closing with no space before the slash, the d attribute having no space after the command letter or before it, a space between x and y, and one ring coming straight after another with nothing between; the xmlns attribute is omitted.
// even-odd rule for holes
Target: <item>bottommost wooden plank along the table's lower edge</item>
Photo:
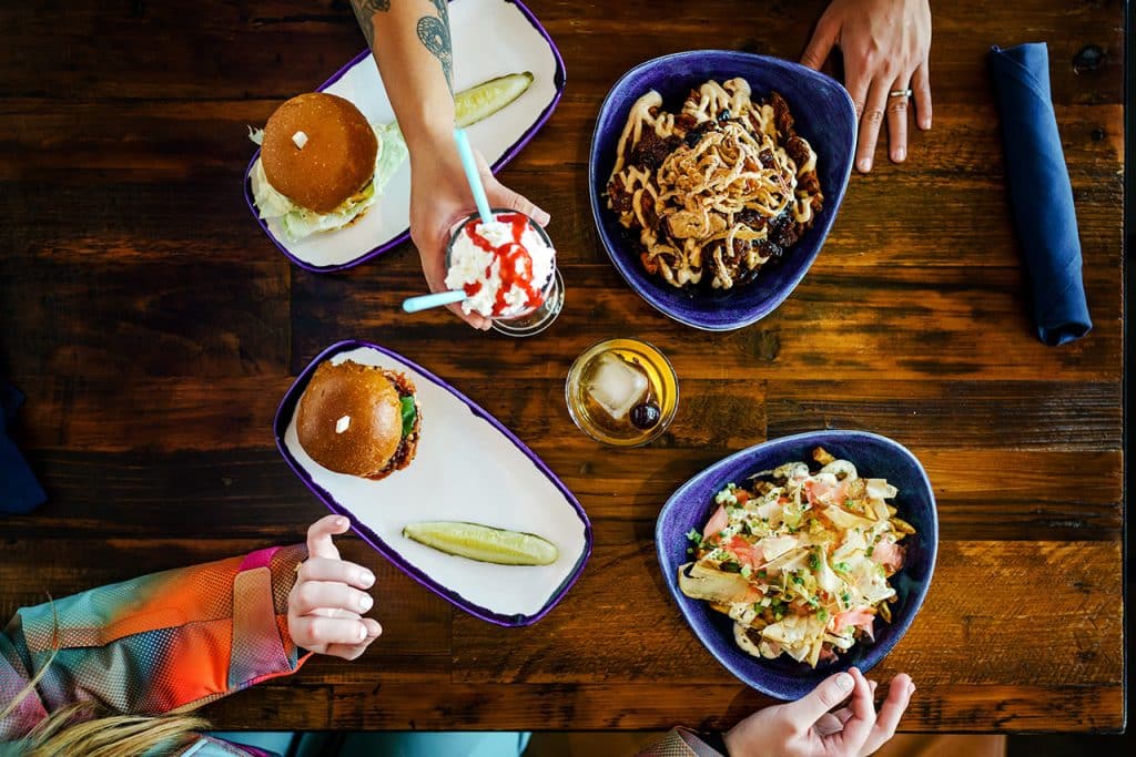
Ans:
<svg viewBox="0 0 1136 757"><path fill-rule="evenodd" d="M242 692L236 700L210 705L202 714L217 723L247 722L287 713L296 727L478 730L486 713L504 730L665 730L676 724L698 730L725 730L753 710L777 704L751 689L724 684L650 683L453 683L445 696L420 685L376 680L331 687L270 682ZM306 699L294 708L290 698ZM903 720L905 731L922 723L950 733L1097 732L1116 730L1124 717L1119 683L1100 685L959 684L920 687ZM260 720L259 722L265 722Z"/></svg>

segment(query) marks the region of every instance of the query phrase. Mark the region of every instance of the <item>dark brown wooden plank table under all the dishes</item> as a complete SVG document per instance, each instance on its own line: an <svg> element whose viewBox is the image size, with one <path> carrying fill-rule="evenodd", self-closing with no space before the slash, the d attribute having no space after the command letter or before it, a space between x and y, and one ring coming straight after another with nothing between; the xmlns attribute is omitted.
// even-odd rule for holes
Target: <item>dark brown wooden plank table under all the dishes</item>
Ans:
<svg viewBox="0 0 1136 757"><path fill-rule="evenodd" d="M687 630L659 574L667 496L709 463L817 428L908 445L935 483L939 563L875 671L910 672L913 731L1122 724L1122 19L1117 1L937 3L935 127L853 176L824 253L769 318L701 334L608 262L586 155L600 102L648 58L699 47L795 58L824 2L535 1L563 53L556 115L503 173L553 217L567 305L544 335L395 314L421 291L406 244L341 275L291 266L241 196L284 99L362 45L342 1L0 6L0 373L28 396L17 438L50 493L0 521L0 611L158 569L298 540L323 507L270 421L332 342L384 344L512 428L595 528L577 586L503 630L452 609L357 539L386 632L210 707L226 727L663 729L767 704ZM746 16L752 18L746 18ZM985 52L1045 40L1095 327L1043 346L1026 316ZM1088 44L1095 70L1071 60ZM562 399L601 337L659 345L682 380L658 443L592 443Z"/></svg>

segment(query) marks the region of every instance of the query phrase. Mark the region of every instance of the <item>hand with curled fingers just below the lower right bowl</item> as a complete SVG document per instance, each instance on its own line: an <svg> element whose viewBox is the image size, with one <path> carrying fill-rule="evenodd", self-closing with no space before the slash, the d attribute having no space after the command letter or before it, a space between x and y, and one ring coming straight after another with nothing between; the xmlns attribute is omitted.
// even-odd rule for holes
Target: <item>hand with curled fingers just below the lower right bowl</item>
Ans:
<svg viewBox="0 0 1136 757"><path fill-rule="evenodd" d="M870 755L895 734L916 687L905 673L896 675L878 713L875 690L875 681L855 667L830 675L801 699L758 710L732 727L724 734L726 748L730 757Z"/></svg>

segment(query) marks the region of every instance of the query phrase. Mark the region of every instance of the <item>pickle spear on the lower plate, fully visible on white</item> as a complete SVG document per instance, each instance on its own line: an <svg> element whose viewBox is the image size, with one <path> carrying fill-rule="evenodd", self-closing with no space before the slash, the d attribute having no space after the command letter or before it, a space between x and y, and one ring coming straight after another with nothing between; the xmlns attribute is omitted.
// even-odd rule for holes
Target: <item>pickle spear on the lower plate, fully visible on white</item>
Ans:
<svg viewBox="0 0 1136 757"><path fill-rule="evenodd" d="M402 536L448 555L498 565L549 565L560 554L554 544L535 533L507 531L478 523L410 523L402 529Z"/></svg>

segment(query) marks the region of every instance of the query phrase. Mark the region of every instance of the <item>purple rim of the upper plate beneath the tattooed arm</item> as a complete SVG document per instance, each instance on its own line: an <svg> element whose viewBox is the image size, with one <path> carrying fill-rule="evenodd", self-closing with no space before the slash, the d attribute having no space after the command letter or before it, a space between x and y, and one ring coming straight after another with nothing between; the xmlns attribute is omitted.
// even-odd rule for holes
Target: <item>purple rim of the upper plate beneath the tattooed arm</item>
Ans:
<svg viewBox="0 0 1136 757"><path fill-rule="evenodd" d="M450 1L452 2L452 0ZM536 32L544 37L544 41L549 43L549 50L552 51L552 57L557 61L557 70L552 75L552 87L553 90L556 90L556 92L552 95L552 100L549 102L549 104L545 106L544 110L541 111L541 115L536 118L535 121L533 121L533 125L529 126L527 129L525 129L525 132L520 135L520 137L512 143L512 146L506 150L504 154L493 162L493 165L490 167L493 174L496 174L499 170L504 168L506 165L509 163L513 158L516 158L517 153L519 153L526 144L532 142L533 137L536 136L536 133L544 127L549 118L552 117L552 111L554 111L557 109L557 106L560 104L560 99L563 96L565 86L567 85L568 82L568 74L567 70L565 69L565 59L560 54L560 49L557 47L557 43L552 41L552 36L549 34L548 30L544 28L541 22L537 20L533 11L529 10L528 7L525 6L525 3L521 2L520 0L502 0L502 2L516 6L517 9L520 11L521 16L525 17L525 20L527 20L533 26L533 28L536 30ZM349 60L342 68L340 68L340 70L335 72L335 74L333 74L329 79L327 79L318 87L316 87L315 91L323 92L331 85L335 84L341 78L343 78L343 76L349 70L351 70L352 67L358 65L359 61L364 60L369 54L370 50L364 50L354 58ZM257 163L258 158L260 158L260 148L257 148L256 152L252 153L252 158L249 160L249 166L244 169L244 183L243 183L244 202L245 204L249 205L249 211L252 213L253 220L256 220L257 224L260 226L260 229L265 233L265 236L267 236L272 241L272 243L276 245L277 250L284 253L284 256L286 256L289 260L295 263L298 267L304 269L306 271L311 271L312 274L334 274L335 271L342 271L349 268L354 268L356 266L365 263L373 258L382 255L384 252L390 252L393 247L396 247L398 245L402 244L403 242L410 238L410 229L407 228L404 232L401 232L400 234L398 234L390 241L384 242L377 247L371 249L369 252L365 252L358 258L353 258L352 260L349 260L345 263L336 263L334 266L314 266L309 262L300 260L294 254L292 254L292 252L287 247L285 247L279 239L276 238L276 235L274 235L272 233L272 229L268 228L268 224L265 221L265 219L260 218L260 213L257 212L257 205L252 200L252 180L250 176L252 175L252 167Z"/></svg>

